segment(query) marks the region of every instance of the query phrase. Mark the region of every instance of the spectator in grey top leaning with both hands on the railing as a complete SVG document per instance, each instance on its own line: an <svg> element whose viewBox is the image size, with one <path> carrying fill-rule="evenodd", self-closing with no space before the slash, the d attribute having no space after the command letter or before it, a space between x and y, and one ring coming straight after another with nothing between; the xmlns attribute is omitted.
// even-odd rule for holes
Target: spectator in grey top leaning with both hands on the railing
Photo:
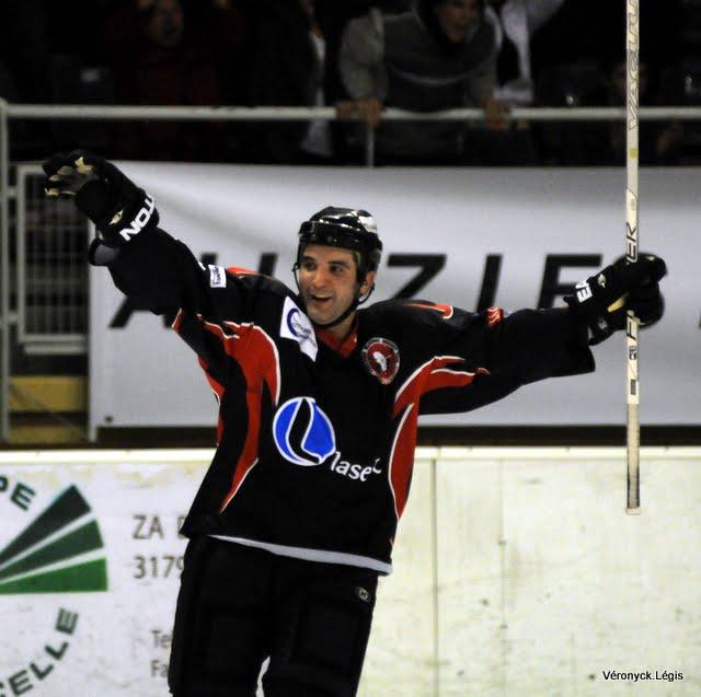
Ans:
<svg viewBox="0 0 701 697"><path fill-rule="evenodd" d="M420 0L395 16L371 10L345 32L341 77L354 102L345 113L372 127L382 106L435 112L462 106L485 111L487 128L456 121L391 121L377 131L380 161L501 164L532 160L514 131L507 107L494 97L496 37L482 0Z"/></svg>

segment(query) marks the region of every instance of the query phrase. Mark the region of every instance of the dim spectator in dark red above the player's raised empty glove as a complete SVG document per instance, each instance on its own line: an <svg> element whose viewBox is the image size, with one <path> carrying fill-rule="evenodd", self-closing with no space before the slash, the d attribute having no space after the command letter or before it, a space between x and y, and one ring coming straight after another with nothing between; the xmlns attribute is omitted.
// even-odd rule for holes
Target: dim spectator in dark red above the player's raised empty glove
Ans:
<svg viewBox="0 0 701 697"><path fill-rule="evenodd" d="M117 101L143 105L220 105L222 71L235 65L243 39L242 15L229 0L200 3L191 21L180 0L130 0L108 18L106 55ZM115 128L112 156L221 161L237 143L225 121L138 121ZM147 147L148 144L148 147Z"/></svg>

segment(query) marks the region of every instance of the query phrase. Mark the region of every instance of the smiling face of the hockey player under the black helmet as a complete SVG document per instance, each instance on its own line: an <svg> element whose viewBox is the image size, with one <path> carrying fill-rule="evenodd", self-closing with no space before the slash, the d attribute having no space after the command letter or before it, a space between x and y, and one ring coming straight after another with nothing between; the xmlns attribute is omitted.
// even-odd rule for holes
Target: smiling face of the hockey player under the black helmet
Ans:
<svg viewBox="0 0 701 697"><path fill-rule="evenodd" d="M370 289L375 272L367 275L359 289L357 272L355 256L348 249L320 244L310 244L304 248L299 268L299 290L312 322L333 322L348 309L356 291L365 294ZM340 338L344 337L350 328L353 316L331 327L331 332Z"/></svg>

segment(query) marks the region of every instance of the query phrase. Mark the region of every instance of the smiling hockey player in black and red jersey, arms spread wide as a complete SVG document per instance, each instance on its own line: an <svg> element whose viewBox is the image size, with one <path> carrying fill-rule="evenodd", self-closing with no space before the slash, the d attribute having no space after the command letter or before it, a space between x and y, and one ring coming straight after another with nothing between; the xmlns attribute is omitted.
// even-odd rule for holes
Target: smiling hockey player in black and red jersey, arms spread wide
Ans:
<svg viewBox="0 0 701 697"><path fill-rule="evenodd" d="M219 402L218 448L189 537L169 684L176 697L356 694L378 574L412 477L420 414L467 411L527 383L594 370L589 345L662 316L655 257L617 263L567 306L473 314L372 291L382 244L365 211L303 222L298 293L204 267L158 226L153 200L76 151L44 163L48 196L96 225L90 262L131 303L172 315Z"/></svg>

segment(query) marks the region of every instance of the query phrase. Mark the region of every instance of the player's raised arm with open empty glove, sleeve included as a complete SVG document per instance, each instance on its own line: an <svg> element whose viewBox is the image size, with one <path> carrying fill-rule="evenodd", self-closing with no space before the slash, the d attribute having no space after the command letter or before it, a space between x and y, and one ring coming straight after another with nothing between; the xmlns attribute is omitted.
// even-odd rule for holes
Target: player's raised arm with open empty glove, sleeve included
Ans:
<svg viewBox="0 0 701 697"><path fill-rule="evenodd" d="M90 263L107 267L133 306L176 316L173 328L208 375L226 386L230 362L246 348L248 339L235 335L237 323L253 318L261 287L276 282L205 268L183 242L158 226L153 199L102 158L83 151L59 153L44 170L47 196L73 198L95 223Z"/></svg>

